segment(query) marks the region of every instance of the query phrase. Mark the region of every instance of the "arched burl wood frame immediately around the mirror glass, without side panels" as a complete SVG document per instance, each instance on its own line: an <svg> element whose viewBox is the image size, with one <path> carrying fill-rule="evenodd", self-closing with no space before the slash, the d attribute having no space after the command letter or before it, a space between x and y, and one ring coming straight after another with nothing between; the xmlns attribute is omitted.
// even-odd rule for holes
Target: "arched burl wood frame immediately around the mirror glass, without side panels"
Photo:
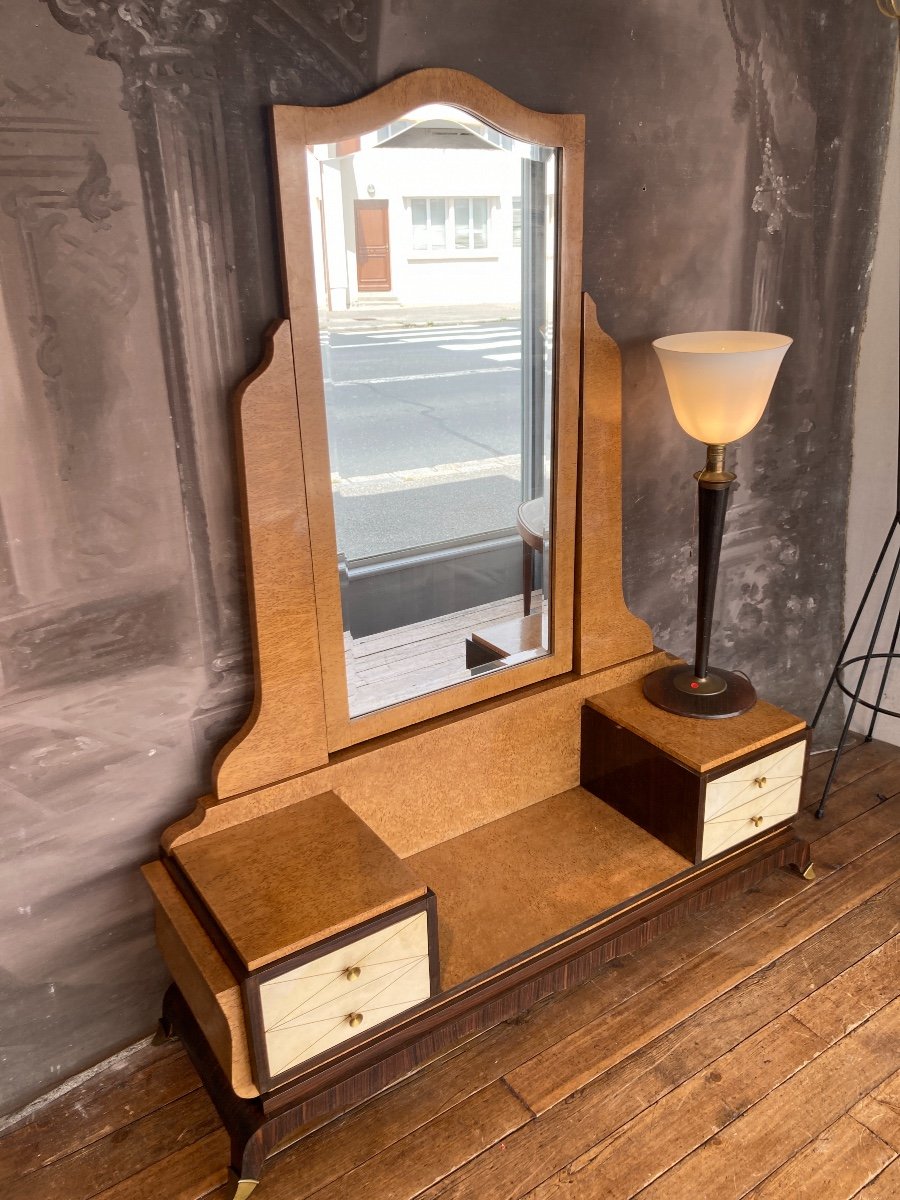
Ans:
<svg viewBox="0 0 900 1200"><path fill-rule="evenodd" d="M307 145L359 137L396 121L410 109L445 103L462 108L502 133L560 148L559 332L556 355L554 486L551 540L553 604L551 652L517 666L454 684L390 708L350 718L347 698L344 636L337 574L331 474L328 460L325 395L319 355L314 292ZM581 116L557 116L523 108L486 84L460 72L428 70L395 80L340 108L275 109L275 151L284 238L286 282L298 365L298 403L306 461L313 576L325 697L328 744L337 750L379 733L416 724L571 670L575 488L578 421L578 290L583 190ZM439 298L436 298L439 302Z"/></svg>

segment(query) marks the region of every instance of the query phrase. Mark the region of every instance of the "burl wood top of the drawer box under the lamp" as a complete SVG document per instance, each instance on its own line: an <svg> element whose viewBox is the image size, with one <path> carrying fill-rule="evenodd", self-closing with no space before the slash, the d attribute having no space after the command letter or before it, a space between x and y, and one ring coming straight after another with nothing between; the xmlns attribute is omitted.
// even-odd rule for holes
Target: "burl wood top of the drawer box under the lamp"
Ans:
<svg viewBox="0 0 900 1200"><path fill-rule="evenodd" d="M806 728L799 716L764 700L757 700L740 716L722 720L678 716L652 704L641 690L642 684L642 679L636 679L592 696L586 703L701 775Z"/></svg>

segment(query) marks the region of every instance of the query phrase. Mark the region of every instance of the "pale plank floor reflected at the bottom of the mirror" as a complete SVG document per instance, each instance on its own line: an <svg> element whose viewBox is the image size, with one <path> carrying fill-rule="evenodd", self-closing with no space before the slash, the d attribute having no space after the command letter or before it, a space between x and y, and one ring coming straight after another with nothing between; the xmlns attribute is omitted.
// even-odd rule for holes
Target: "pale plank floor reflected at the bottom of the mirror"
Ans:
<svg viewBox="0 0 900 1200"><path fill-rule="evenodd" d="M532 612L542 608L546 601L535 592ZM522 614L522 596L517 595L355 641L344 634L350 715L359 716L470 679L466 638L476 629L516 620Z"/></svg>

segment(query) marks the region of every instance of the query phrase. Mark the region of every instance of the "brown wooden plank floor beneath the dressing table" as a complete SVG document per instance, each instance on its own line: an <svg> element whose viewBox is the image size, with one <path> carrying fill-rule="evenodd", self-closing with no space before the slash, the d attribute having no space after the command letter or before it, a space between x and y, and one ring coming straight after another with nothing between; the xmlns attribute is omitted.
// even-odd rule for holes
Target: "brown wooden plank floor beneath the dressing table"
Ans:
<svg viewBox="0 0 900 1200"><path fill-rule="evenodd" d="M824 764L809 784L815 800ZM896 1200L900 750L846 754L776 872L270 1162L260 1200ZM0 1138L5 1200L224 1200L176 1044Z"/></svg>

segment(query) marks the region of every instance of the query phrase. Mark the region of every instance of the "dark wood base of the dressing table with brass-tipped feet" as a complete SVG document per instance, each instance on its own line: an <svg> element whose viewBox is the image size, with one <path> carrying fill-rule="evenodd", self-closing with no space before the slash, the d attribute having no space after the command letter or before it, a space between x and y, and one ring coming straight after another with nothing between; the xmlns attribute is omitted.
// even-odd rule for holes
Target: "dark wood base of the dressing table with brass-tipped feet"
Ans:
<svg viewBox="0 0 900 1200"><path fill-rule="evenodd" d="M163 1001L161 1033L181 1039L206 1087L230 1136L232 1200L246 1200L259 1183L266 1158L305 1126L376 1094L462 1037L583 983L610 959L631 953L691 913L720 904L786 866L793 866L805 878L812 876L808 844L790 828L774 829L748 846L685 871L634 905L599 914L594 922L535 948L468 990L463 985L434 997L433 1006L389 1027L379 1040L257 1099L235 1094L174 984Z"/></svg>

